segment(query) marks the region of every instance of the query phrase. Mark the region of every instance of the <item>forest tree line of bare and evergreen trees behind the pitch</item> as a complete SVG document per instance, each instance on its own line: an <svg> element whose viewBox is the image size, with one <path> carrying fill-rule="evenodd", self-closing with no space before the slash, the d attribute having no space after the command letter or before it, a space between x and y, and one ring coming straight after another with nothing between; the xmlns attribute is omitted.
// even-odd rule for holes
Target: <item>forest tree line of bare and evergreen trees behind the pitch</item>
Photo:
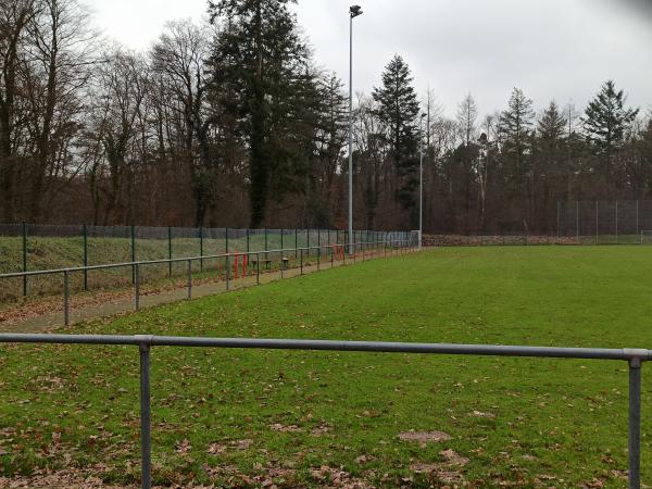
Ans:
<svg viewBox="0 0 652 489"><path fill-rule="evenodd" d="M291 0L213 0L134 52L77 0L0 0L0 222L346 227L348 99ZM380 70L379 70L380 71ZM396 55L354 103L355 227L546 233L555 202L652 193L652 121L514 88L447 117Z"/></svg>

